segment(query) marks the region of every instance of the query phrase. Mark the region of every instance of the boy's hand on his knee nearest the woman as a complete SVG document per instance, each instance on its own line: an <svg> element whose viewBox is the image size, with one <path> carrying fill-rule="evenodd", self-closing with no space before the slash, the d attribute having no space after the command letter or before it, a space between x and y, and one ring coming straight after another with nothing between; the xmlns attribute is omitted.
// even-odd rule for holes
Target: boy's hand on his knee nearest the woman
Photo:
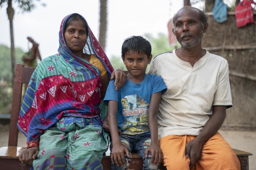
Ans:
<svg viewBox="0 0 256 170"><path fill-rule="evenodd" d="M112 148L111 151L111 162L112 164L117 164L119 166L119 163L121 166L125 164L125 158L124 158L124 153L126 153L127 157L130 158L130 154L127 148L125 148L123 145L115 145Z"/></svg>

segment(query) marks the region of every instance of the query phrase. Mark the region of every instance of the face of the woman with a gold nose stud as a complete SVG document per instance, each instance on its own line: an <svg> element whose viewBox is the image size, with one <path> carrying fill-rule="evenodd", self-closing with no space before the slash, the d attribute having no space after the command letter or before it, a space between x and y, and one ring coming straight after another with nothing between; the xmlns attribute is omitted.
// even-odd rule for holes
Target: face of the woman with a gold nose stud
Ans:
<svg viewBox="0 0 256 170"><path fill-rule="evenodd" d="M85 24L82 20L73 20L68 24L64 37L70 50L74 52L83 51L87 40Z"/></svg>

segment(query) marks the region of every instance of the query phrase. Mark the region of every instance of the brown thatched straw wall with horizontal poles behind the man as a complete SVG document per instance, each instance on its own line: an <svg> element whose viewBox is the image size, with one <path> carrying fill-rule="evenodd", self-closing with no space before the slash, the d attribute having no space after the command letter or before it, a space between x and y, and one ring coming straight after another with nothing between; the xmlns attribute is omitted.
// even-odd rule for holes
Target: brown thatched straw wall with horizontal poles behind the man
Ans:
<svg viewBox="0 0 256 170"><path fill-rule="evenodd" d="M227 109L223 127L256 129L255 23L237 28L234 12L229 12L228 20L221 24L209 15L203 47L226 58L230 70L233 107Z"/></svg>

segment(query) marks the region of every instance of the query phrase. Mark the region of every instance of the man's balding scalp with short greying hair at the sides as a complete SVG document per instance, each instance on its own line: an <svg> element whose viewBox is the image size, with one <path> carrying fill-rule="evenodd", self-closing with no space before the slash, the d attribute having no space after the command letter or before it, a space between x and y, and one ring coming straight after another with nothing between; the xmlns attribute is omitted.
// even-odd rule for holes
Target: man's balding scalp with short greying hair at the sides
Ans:
<svg viewBox="0 0 256 170"><path fill-rule="evenodd" d="M201 11L198 8L191 7L191 6L184 6L173 17L173 29L175 29L175 27L176 27L175 22L177 20L177 17L179 15L182 15L185 13L193 13L195 15L195 17L200 17L201 29L204 28L204 26L207 23L208 18L209 18L209 16L207 14L205 14L203 11Z"/></svg>

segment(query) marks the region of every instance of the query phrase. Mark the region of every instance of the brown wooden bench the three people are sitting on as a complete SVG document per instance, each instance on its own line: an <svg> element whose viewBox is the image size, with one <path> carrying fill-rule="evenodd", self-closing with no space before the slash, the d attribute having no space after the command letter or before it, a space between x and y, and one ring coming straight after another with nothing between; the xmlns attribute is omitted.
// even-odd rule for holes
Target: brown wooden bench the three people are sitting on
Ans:
<svg viewBox="0 0 256 170"><path fill-rule="evenodd" d="M29 79L35 68L27 68L22 64L17 64L16 66L16 75L14 80L13 87L13 101L12 101L12 110L11 110L11 121L10 121L10 130L9 130L9 140L8 146L0 148L0 169L13 170L13 169L29 169L29 165L22 164L19 162L18 155L21 150L26 148L17 147L18 144L18 116L21 108L21 95L22 95L22 85L28 84ZM245 151L240 151L233 149L236 153L242 170L248 170L248 156L252 153ZM110 156L105 155L101 161L104 170L110 169ZM136 153L132 153L132 159L130 161L129 169L142 169L142 158ZM164 166L161 166L160 169L166 169Z"/></svg>

